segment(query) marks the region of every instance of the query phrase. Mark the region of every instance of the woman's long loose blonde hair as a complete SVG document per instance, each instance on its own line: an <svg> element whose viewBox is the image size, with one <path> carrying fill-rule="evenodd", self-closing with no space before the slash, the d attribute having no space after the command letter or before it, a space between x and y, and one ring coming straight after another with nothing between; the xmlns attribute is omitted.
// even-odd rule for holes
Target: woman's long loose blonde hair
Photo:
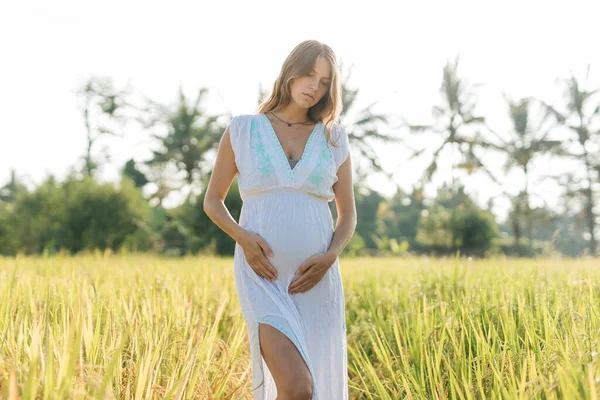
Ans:
<svg viewBox="0 0 600 400"><path fill-rule="evenodd" d="M308 109L308 118L325 125L327 140L331 142L331 130L334 125L339 125L337 118L342 112L343 105L337 58L331 47L325 43L305 40L292 50L281 67L271 94L259 105L257 112L266 114L287 106L292 99L293 80L308 75L319 57L329 62L331 81L327 93L317 104Z"/></svg>

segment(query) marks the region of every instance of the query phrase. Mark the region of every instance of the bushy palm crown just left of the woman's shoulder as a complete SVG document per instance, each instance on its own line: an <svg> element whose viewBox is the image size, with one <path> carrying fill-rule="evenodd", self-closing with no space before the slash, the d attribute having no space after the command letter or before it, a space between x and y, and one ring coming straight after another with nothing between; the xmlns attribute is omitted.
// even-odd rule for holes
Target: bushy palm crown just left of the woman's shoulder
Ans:
<svg viewBox="0 0 600 400"><path fill-rule="evenodd" d="M206 155L218 146L219 139L225 127L219 122L220 116L207 115L200 107L208 90L200 89L194 103L190 106L179 88L178 103L174 107L157 104L148 100L146 112L150 115L141 119L146 128L159 126L167 131L166 136L153 135L160 148L153 151L148 165L163 165L173 163L183 172L185 187L188 196L198 183L202 182L202 175L208 170L205 160Z"/></svg>

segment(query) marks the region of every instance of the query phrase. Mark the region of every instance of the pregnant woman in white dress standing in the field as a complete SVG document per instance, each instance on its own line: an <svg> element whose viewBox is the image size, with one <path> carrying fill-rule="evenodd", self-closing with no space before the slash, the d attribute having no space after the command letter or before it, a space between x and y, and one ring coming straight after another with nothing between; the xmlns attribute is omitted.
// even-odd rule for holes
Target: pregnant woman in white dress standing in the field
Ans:
<svg viewBox="0 0 600 400"><path fill-rule="evenodd" d="M204 210L236 241L255 400L348 399L338 257L356 207L340 90L331 48L302 42L257 114L235 116L219 143ZM239 224L224 204L236 174Z"/></svg>

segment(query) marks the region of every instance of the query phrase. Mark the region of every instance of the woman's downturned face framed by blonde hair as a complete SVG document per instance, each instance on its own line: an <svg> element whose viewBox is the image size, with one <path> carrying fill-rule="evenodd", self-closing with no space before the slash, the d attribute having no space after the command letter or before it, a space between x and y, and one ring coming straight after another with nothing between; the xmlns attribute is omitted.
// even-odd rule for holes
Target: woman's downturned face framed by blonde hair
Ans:
<svg viewBox="0 0 600 400"><path fill-rule="evenodd" d="M327 94L331 85L331 67L322 57L317 58L312 72L292 81L292 99L302 108L310 108Z"/></svg>

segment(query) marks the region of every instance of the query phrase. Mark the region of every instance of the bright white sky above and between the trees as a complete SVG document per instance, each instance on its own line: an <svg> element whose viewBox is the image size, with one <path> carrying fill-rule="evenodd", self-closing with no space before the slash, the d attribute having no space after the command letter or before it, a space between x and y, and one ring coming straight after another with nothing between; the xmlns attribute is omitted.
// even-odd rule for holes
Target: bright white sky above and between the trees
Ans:
<svg viewBox="0 0 600 400"><path fill-rule="evenodd" d="M497 130L508 129L501 93L557 99L556 78L573 70L600 86L596 1L115 1L56 0L0 5L0 182L10 168L31 184L62 178L85 150L85 129L75 89L88 77L110 76L138 94L176 100L178 86L195 98L208 87L209 113L251 113L259 85L271 84L293 47L306 39L329 44L353 64L359 106L427 122L439 102L447 58L460 54L460 72L479 89L480 113ZM351 127L350 127L351 128ZM123 163L148 155L148 133L105 143L112 163L101 178L114 180ZM377 154L406 190L426 161L408 163L402 146ZM494 161L494 158L491 158ZM497 168L501 159L494 161ZM565 165L540 162L534 173ZM500 171L500 169L498 169ZM449 172L437 183L448 180ZM384 194L393 186L373 176ZM485 177L468 190L482 203L499 192ZM506 178L513 192L519 174ZM550 204L557 189L534 185ZM495 210L506 211L499 202Z"/></svg>

